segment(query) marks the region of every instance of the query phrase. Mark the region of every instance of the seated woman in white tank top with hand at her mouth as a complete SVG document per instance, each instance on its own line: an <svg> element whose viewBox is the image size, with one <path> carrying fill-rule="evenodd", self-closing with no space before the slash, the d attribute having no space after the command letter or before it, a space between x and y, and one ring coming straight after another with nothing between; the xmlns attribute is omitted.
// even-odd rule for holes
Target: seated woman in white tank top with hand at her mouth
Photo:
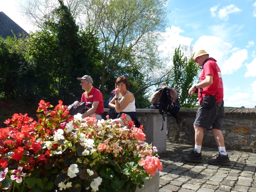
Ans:
<svg viewBox="0 0 256 192"><path fill-rule="evenodd" d="M117 117L122 117L122 113L126 114L126 119L130 121L134 121L134 124L136 127L140 125L138 119L137 119L137 113L135 108L135 99L134 95L128 91L129 89L129 82L127 77L120 76L116 79L116 96L109 102L109 106L111 108L116 108L116 113L119 113ZM122 94L122 99L119 101L119 95ZM114 120L120 120L122 123L122 119L114 119ZM119 122L120 122L119 121Z"/></svg>

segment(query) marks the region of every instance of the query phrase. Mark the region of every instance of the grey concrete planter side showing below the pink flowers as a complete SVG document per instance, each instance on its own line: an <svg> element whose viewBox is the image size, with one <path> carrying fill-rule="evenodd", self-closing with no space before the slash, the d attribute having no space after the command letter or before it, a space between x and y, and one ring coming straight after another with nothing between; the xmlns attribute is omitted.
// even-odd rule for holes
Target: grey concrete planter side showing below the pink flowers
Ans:
<svg viewBox="0 0 256 192"><path fill-rule="evenodd" d="M155 173L155 175L151 179L145 180L145 185L139 189L137 187L135 192L159 192L159 171Z"/></svg>

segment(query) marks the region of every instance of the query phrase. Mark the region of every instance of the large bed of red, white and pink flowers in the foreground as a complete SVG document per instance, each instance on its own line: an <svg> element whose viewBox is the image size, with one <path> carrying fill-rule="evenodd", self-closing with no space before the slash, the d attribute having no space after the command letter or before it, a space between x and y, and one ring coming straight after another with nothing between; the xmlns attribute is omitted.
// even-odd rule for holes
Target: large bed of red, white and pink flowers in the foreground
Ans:
<svg viewBox="0 0 256 192"><path fill-rule="evenodd" d="M0 128L0 190L135 192L163 169L143 127L71 116L40 101L38 121L14 114Z"/></svg>

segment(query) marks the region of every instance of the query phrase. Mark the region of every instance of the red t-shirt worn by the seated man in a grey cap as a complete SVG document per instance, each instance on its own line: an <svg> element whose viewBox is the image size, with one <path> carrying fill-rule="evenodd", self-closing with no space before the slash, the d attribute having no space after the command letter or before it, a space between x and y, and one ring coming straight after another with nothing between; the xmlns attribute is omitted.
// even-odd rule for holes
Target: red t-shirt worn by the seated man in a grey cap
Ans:
<svg viewBox="0 0 256 192"><path fill-rule="evenodd" d="M83 94L82 94L82 97L81 97L81 102L86 102L86 106L87 107L89 107L89 106L91 106L92 104L93 104L93 102L96 102L96 101L99 101L99 105L98 105L98 107L97 107L97 109L96 109L96 111L95 111L95 113L97 113L97 114L102 114L102 113L104 113L104 106L103 106L103 96L102 96L102 93L98 90L98 89L96 89L96 88L92 88L91 90L90 90L90 92L88 93L88 97L89 98L87 98L86 97L86 92L84 92ZM91 107L90 107L91 108ZM89 109L90 109L89 108Z"/></svg>

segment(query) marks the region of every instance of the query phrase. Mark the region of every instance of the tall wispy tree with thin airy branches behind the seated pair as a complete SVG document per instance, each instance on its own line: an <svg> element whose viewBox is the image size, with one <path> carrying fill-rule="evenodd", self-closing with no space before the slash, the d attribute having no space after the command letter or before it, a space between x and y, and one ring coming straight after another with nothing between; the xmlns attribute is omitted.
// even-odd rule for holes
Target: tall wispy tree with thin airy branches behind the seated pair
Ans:
<svg viewBox="0 0 256 192"><path fill-rule="evenodd" d="M23 12L41 29L52 18L49 10L56 7L53 0L30 0ZM166 67L157 49L165 28L165 0L67 0L67 7L79 25L88 29L90 37L99 34L102 60L90 74L100 80L103 94L113 89L116 77L127 73L132 65L142 73L135 94L166 81L169 71L159 76L157 69ZM40 12L38 12L40 11ZM40 14L39 14L40 13ZM133 68L134 68L133 67ZM127 69L125 69L127 68ZM131 73L132 74L132 73ZM111 86L109 88L108 86Z"/></svg>

